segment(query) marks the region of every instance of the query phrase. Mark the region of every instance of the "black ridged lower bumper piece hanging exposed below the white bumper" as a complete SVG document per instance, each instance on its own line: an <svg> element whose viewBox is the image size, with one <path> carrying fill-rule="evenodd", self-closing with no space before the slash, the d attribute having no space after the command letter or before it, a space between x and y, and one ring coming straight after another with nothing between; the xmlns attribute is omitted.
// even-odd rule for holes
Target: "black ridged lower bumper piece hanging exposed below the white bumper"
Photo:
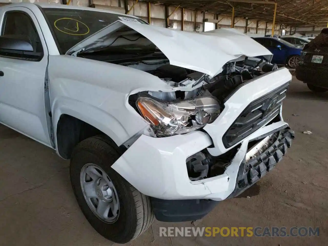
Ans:
<svg viewBox="0 0 328 246"><path fill-rule="evenodd" d="M275 135L276 134L276 135ZM289 128L274 133L276 141L256 158L246 161L244 159L239 167L236 187L228 198L240 195L255 184L267 172L271 171L286 154L292 144L294 131ZM245 168L247 167L247 168Z"/></svg>

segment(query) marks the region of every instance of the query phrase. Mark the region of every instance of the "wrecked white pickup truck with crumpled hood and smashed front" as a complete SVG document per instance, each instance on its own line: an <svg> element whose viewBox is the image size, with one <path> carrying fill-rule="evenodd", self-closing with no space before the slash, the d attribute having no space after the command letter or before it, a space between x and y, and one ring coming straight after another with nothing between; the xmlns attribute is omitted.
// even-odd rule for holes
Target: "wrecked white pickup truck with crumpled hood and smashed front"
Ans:
<svg viewBox="0 0 328 246"><path fill-rule="evenodd" d="M11 4L0 15L1 123L71 159L82 212L114 242L154 216L200 219L291 145L291 74L242 33L65 5Z"/></svg>

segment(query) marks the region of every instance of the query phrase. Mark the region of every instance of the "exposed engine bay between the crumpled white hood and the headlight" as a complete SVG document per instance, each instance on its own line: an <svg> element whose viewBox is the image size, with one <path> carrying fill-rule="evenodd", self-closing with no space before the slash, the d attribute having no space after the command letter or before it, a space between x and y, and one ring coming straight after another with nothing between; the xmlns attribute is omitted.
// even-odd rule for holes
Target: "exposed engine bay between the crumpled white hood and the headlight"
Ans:
<svg viewBox="0 0 328 246"><path fill-rule="evenodd" d="M224 99L242 83L277 69L276 64L270 64L263 59L253 57L250 59L246 57L242 61L226 63L222 68L222 72L213 78L205 73L170 65L168 61L142 61L121 65L151 73L162 79L168 85L181 89L175 92L148 92L151 96L160 100L172 102L174 100L212 95L222 104ZM185 91L188 85L194 87L195 90L192 92Z"/></svg>

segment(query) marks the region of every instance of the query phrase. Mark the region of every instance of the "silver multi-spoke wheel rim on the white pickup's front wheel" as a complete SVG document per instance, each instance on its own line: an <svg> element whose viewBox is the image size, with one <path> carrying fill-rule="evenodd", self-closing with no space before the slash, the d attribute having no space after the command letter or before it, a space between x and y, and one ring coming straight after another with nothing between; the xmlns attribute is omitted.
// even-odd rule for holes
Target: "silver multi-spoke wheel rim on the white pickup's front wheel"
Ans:
<svg viewBox="0 0 328 246"><path fill-rule="evenodd" d="M114 223L119 215L119 200L108 175L95 164L85 164L80 173L81 188L92 212L106 223Z"/></svg>

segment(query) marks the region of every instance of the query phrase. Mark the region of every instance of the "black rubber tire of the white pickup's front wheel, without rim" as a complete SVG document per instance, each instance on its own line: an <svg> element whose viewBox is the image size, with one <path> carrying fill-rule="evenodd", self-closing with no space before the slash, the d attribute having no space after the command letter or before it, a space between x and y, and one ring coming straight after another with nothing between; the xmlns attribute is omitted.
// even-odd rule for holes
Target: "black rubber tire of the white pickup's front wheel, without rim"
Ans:
<svg viewBox="0 0 328 246"><path fill-rule="evenodd" d="M154 212L150 197L141 194L111 167L120 155L115 143L106 137L87 138L73 150L70 175L76 200L92 227L113 242L127 243L147 230L154 221ZM94 163L102 168L115 186L120 207L118 218L112 224L99 219L84 198L80 172L87 163Z"/></svg>

